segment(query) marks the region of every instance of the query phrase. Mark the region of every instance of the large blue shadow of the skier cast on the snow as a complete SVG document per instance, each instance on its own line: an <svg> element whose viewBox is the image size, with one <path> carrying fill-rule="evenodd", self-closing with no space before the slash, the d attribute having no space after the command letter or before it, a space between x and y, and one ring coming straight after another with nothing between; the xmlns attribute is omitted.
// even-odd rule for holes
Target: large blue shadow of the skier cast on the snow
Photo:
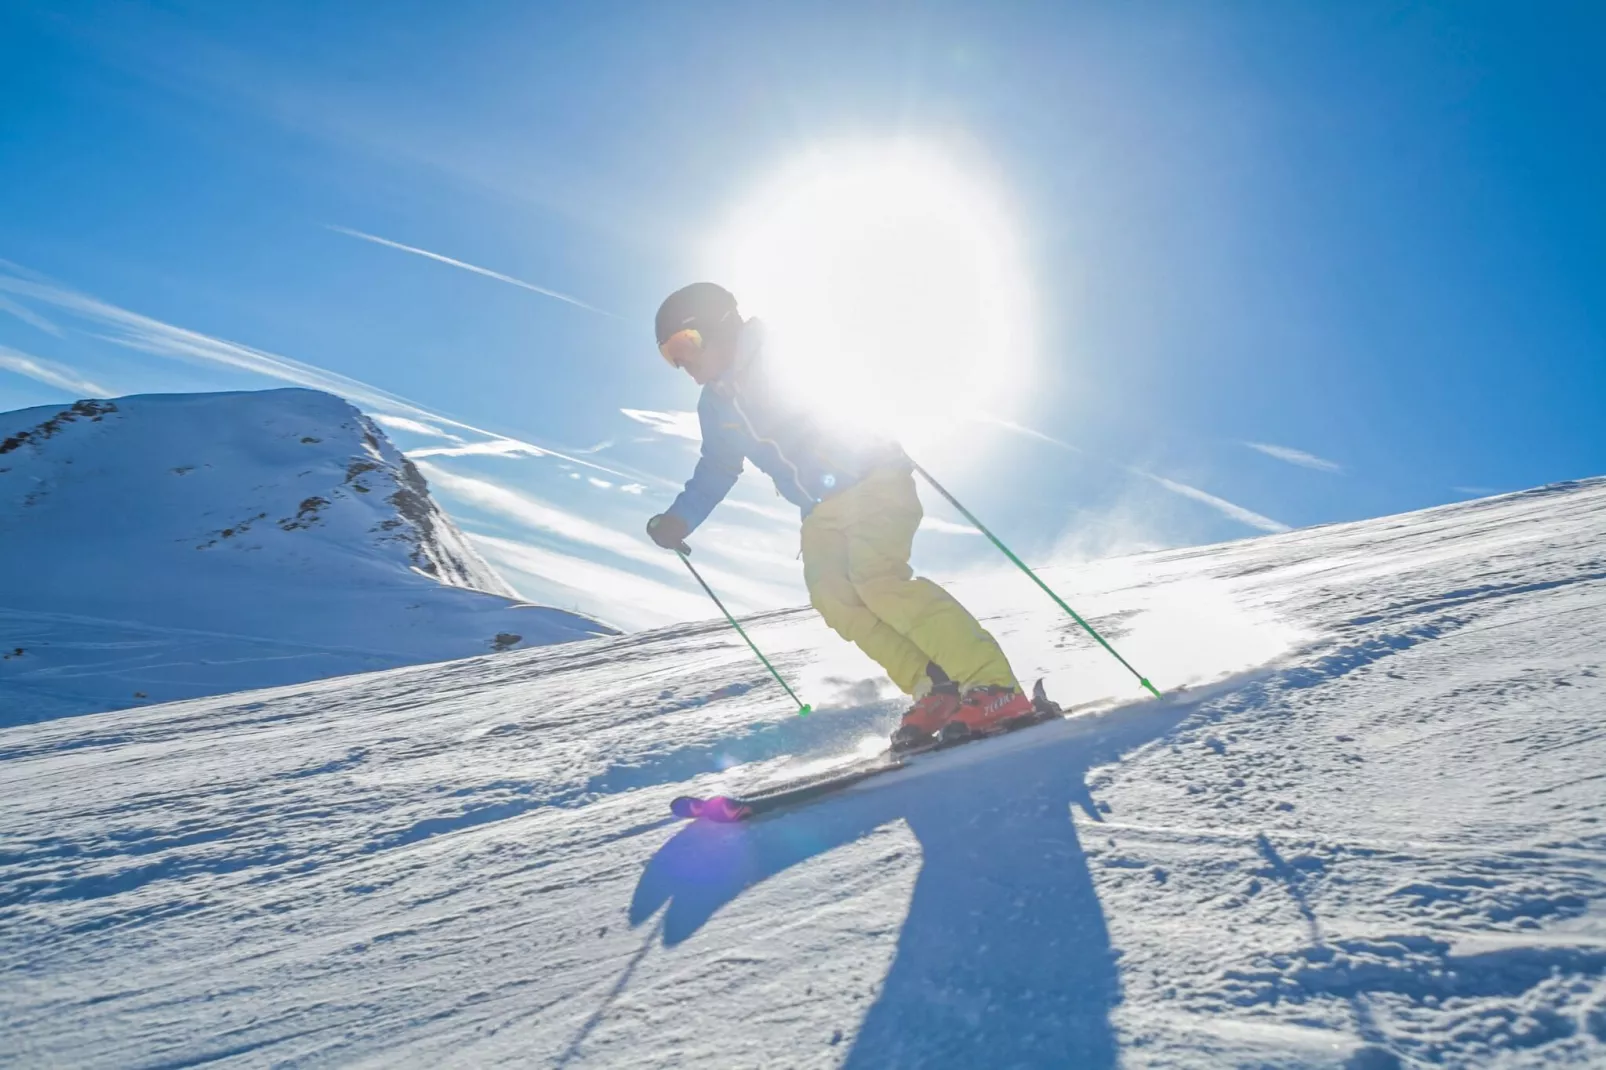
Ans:
<svg viewBox="0 0 1606 1070"><path fill-rule="evenodd" d="M901 818L923 864L898 956L843 1065L1111 1067L1119 977L1070 807L1097 818L1087 770L1187 712L1132 710L750 824L694 823L647 863L631 924L668 901L663 940L676 945L760 880Z"/></svg>

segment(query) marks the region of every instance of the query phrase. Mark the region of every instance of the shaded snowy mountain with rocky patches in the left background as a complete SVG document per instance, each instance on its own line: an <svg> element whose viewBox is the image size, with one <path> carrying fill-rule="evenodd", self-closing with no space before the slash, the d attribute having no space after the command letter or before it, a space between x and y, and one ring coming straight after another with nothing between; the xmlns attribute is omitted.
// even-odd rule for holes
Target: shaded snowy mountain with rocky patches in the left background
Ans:
<svg viewBox="0 0 1606 1070"><path fill-rule="evenodd" d="M329 394L0 413L0 725L609 631L520 606Z"/></svg>

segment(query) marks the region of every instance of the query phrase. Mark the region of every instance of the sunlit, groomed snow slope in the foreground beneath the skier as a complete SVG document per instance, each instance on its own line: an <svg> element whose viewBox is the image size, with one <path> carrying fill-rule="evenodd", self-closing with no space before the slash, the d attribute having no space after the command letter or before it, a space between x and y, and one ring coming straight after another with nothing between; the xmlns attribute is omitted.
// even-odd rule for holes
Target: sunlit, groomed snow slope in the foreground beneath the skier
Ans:
<svg viewBox="0 0 1606 1070"><path fill-rule="evenodd" d="M1606 480L1047 578L1195 686L747 826L895 717L806 612L808 718L708 623L0 731L0 1062L1606 1064Z"/></svg>

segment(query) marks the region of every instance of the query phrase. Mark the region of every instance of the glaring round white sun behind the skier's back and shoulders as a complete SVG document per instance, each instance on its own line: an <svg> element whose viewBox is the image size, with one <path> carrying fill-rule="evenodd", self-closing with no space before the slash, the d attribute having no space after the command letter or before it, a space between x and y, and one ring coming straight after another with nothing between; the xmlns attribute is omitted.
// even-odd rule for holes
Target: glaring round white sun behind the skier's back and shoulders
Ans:
<svg viewBox="0 0 1606 1070"><path fill-rule="evenodd" d="M983 182L936 151L882 145L782 169L710 260L814 413L915 450L1029 386L1015 246Z"/></svg>

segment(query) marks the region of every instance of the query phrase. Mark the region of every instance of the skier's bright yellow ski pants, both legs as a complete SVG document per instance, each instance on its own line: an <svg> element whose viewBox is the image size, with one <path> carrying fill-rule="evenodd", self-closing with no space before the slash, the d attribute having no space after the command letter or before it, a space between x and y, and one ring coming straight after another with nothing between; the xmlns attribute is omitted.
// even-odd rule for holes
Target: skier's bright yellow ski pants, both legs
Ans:
<svg viewBox="0 0 1606 1070"><path fill-rule="evenodd" d="M959 601L909 567L920 496L904 464L814 506L803 521L809 602L906 694L936 662L960 688L1018 686L997 641Z"/></svg>

